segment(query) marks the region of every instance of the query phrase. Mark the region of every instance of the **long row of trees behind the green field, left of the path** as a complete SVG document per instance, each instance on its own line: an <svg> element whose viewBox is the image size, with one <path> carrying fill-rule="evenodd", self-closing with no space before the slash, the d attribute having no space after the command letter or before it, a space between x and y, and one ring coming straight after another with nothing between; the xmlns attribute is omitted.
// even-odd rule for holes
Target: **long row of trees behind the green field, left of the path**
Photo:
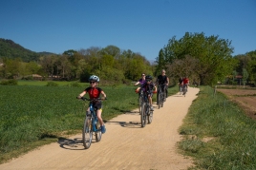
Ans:
<svg viewBox="0 0 256 170"><path fill-rule="evenodd" d="M138 80L141 72L153 74L153 66L139 53L115 46L71 49L61 55L41 56L38 61L29 63L19 58L2 58L2 63L2 78L39 74L46 78L86 82L91 74L96 74L105 82L124 83Z"/></svg>

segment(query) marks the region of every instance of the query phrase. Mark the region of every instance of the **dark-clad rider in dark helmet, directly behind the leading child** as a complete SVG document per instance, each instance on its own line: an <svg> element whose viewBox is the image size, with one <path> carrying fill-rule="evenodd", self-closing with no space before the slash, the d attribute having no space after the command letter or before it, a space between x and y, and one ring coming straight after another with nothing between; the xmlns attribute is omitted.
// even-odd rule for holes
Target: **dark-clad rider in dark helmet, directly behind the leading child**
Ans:
<svg viewBox="0 0 256 170"><path fill-rule="evenodd" d="M153 105L152 105L152 96L153 96L153 90L154 87L157 89L157 86L152 82L152 76L147 75L146 76L146 82L141 85L141 89L144 90L148 96L148 101L150 104L150 110L154 111Z"/></svg>

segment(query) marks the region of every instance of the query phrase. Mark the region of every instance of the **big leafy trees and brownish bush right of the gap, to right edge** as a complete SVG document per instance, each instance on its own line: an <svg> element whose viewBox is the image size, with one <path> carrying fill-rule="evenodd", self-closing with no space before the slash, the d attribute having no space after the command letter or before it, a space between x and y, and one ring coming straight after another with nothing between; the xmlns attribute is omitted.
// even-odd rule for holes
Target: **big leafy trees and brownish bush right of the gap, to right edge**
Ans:
<svg viewBox="0 0 256 170"><path fill-rule="evenodd" d="M179 77L188 76L201 85L215 85L224 83L234 71L236 75L243 75L247 70L248 80L255 82L255 51L232 57L233 49L231 41L219 36L186 32L180 40L174 36L160 49L156 71L165 68L176 82Z"/></svg>

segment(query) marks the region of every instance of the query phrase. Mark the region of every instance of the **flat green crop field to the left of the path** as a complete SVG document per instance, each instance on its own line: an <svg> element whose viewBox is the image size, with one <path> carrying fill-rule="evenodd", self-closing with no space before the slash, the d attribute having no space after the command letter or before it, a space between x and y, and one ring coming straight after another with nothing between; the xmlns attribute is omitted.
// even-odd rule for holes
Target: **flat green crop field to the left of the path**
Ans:
<svg viewBox="0 0 256 170"><path fill-rule="evenodd" d="M88 103L75 97L85 87L0 85L0 161L33 142L75 133L83 125ZM137 107L134 86L103 87L103 120ZM74 131L74 132L73 132ZM65 135L65 134L64 134Z"/></svg>

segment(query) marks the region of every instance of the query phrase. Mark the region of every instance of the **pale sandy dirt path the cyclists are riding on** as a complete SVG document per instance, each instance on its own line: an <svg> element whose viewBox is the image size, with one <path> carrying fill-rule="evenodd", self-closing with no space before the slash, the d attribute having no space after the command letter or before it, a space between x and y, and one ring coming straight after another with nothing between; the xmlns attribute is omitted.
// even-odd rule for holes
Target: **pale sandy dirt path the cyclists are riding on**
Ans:
<svg viewBox="0 0 256 170"><path fill-rule="evenodd" d="M181 140L178 128L198 92L190 87L186 97L171 96L160 109L154 105L153 122L144 128L135 110L106 123L101 141L94 140L87 150L79 142L79 134L0 164L0 169L186 169L192 161L177 153L176 143Z"/></svg>

